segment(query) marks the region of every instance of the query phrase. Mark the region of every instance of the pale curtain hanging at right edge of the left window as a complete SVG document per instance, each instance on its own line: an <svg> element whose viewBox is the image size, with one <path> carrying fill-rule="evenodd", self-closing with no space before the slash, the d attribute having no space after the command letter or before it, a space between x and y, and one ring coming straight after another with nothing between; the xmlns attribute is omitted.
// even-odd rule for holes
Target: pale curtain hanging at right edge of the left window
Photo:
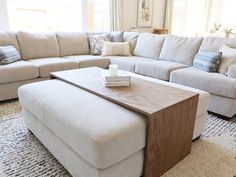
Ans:
<svg viewBox="0 0 236 177"><path fill-rule="evenodd" d="M120 31L122 25L122 0L110 0L111 31Z"/></svg>

